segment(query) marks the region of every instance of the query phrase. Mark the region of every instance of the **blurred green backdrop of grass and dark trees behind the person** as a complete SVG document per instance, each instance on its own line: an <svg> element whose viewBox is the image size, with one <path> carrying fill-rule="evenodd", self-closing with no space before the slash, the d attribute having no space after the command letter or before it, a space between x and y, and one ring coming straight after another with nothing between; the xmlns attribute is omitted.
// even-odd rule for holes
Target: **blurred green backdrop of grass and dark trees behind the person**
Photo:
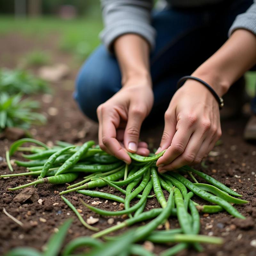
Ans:
<svg viewBox="0 0 256 256"><path fill-rule="evenodd" d="M0 37L16 33L37 42L49 42L57 36L52 48L38 44L25 51L17 61L18 67L51 64L56 50L71 54L73 64L80 65L100 44L98 35L103 25L99 0L0 0L0 6ZM4 62L12 53L2 54ZM248 72L246 81L247 91L253 96L255 72Z"/></svg>

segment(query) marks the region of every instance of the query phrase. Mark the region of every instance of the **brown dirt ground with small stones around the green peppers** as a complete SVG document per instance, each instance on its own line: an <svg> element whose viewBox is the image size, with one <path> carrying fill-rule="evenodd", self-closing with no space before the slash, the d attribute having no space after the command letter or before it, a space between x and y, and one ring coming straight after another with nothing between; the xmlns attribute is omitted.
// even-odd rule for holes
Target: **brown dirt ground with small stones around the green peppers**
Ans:
<svg viewBox="0 0 256 256"><path fill-rule="evenodd" d="M55 47L55 41L37 42L32 38L23 38L19 35L9 35L0 37L0 49L5 55L0 54L1 67L14 68L17 66L17 60L25 53L30 51L35 45L43 49L51 50L52 57L56 62L70 64L70 75L64 80L52 84L54 95L50 100L45 95L36 96L42 103L42 111L47 115L48 123L44 126L33 127L31 133L38 140L52 144L55 140L64 140L72 143L84 142L86 140L97 140L97 124L84 117L75 101L72 98L74 90L74 79L79 65L74 65L71 56L59 52ZM6 54L8 53L8 54ZM2 56L2 57L1 57ZM36 69L34 69L36 71ZM45 100L46 99L46 100ZM163 115L163 113L161 113ZM242 138L244 125L247 117L241 117L236 120L227 120L222 122L222 144L214 148L214 154L208 156L204 168L201 165L196 166L199 169L230 188L243 195L243 198L249 201L247 205L237 205L238 209L246 220L238 220L231 217L227 212L216 214L201 214L201 234L220 236L225 239L221 246L204 245L204 252L197 253L192 249L183 251L178 255L217 255L217 256L253 256L256 255L256 147L253 144L245 142ZM142 139L147 141L150 147L157 147L161 138L163 125L157 127L148 127L142 131ZM5 163L5 148L9 147L12 141L7 139L0 140L0 173L9 173ZM21 159L19 154L14 155L15 159ZM15 167L15 172L24 171L23 167ZM33 246L42 249L49 236L56 231L56 228L66 219L73 217L74 221L68 231L66 242L82 235L91 235L92 231L85 229L74 213L67 207L58 195L58 191L66 188L66 185L38 185L35 190L42 204L38 202L26 201L23 204L14 202L13 198L20 191L8 192L7 187L15 187L19 184L25 184L33 177L18 177L0 180L0 255L3 255L9 249L15 246ZM199 179L200 180L200 179ZM101 189L101 188L99 188ZM104 191L115 193L118 191L113 188L103 188ZM82 210L84 219L93 216L100 220L94 224L101 230L123 221L122 217L114 217L114 224L109 225L108 217L101 217L82 206L79 198L85 202L100 200L100 208L114 210L119 209L119 203L113 204L113 201L89 196L79 195L75 192L66 194L66 197L77 208ZM146 209L159 207L155 198L149 199ZM12 214L18 220L24 223L23 227L13 222L5 214L3 208ZM170 218L171 228L177 227L177 220ZM122 232L123 230L119 231ZM161 252L167 246L155 245L155 252Z"/></svg>

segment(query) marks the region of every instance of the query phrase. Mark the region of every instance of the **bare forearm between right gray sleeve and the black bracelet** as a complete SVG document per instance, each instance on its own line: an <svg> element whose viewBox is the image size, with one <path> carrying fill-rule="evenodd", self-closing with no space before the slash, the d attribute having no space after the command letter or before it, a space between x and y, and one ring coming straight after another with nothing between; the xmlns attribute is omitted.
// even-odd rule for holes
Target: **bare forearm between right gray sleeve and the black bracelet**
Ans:
<svg viewBox="0 0 256 256"><path fill-rule="evenodd" d="M192 76L211 84L219 96L256 64L256 36L238 29Z"/></svg>

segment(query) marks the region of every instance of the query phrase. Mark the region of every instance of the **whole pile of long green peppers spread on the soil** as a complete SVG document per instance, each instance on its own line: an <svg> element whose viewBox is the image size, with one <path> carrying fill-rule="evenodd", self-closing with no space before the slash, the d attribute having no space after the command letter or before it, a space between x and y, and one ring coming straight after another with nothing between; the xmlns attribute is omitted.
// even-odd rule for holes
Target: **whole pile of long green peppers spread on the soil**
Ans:
<svg viewBox="0 0 256 256"><path fill-rule="evenodd" d="M35 143L38 146L21 147L23 143L28 142ZM68 185L67 190L59 194L63 195L76 191L76 193L85 196L100 197L124 203L124 210L106 211L86 204L81 200L84 206L100 215L116 216L127 214L128 218L122 223L99 231L98 228L88 225L71 202L61 196L86 228L98 231L91 237L79 237L73 244L70 242L65 247L62 255L69 255L75 248L84 245L94 247L86 255L119 255L120 248L122 248L122 252L125 251L124 248L127 248L127 253L123 253L124 255L154 255L143 249L139 244L136 244L144 240L153 243L175 244L170 249L162 252L161 256L175 255L188 247L202 251L202 243L221 244L223 241L218 237L199 235L199 211L216 213L225 210L234 217L245 219L230 203L246 204L248 201L239 198L241 195L211 176L189 166L180 168L177 170L178 172L159 174L156 168L156 160L164 154L164 151L157 155L151 154L148 157L128 153L132 158L132 164L128 166L114 156L108 155L98 145L95 146L94 141L87 141L82 146L57 141L55 146L49 148L37 140L21 139L14 142L8 154L6 154L8 155L6 159L8 166L12 166L9 157L16 151L31 153L22 155L29 161L15 161L17 165L27 167L28 172L6 174L0 177L33 175L37 176L37 180L16 188L8 188L10 191L43 183L71 183L78 177L84 176L85 173L86 176L83 177L83 180ZM208 183L198 183L193 174L198 175ZM193 182L187 177L191 177ZM93 188L104 186L116 188L124 194L125 198L92 190ZM123 186L126 187L124 188ZM164 196L166 193L163 190L168 192L168 200L166 200L166 196ZM211 204L199 205L192 200L193 196L198 196ZM147 200L151 197L156 197L161 208L144 211ZM134 198L139 199L139 201L131 206L130 203ZM169 218L173 217L178 219L180 228L156 231L159 225L164 224ZM135 231L133 230L132 233L128 231L119 237L106 236L118 229L150 219L152 219L150 222ZM97 240L100 237L110 241L103 246L102 242Z"/></svg>

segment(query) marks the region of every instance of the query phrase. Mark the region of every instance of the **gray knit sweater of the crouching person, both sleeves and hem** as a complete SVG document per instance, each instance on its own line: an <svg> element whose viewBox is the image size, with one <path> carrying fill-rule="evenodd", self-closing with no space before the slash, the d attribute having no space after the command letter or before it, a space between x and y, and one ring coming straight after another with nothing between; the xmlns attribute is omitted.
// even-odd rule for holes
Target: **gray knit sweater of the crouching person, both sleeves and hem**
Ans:
<svg viewBox="0 0 256 256"><path fill-rule="evenodd" d="M152 0L101 0L105 28L100 38L109 49L114 40L126 33L144 37L151 48L155 45L155 29L150 25ZM195 7L221 2L221 0L168 0L172 6ZM244 28L256 35L256 0L245 12L236 17L228 34Z"/></svg>

